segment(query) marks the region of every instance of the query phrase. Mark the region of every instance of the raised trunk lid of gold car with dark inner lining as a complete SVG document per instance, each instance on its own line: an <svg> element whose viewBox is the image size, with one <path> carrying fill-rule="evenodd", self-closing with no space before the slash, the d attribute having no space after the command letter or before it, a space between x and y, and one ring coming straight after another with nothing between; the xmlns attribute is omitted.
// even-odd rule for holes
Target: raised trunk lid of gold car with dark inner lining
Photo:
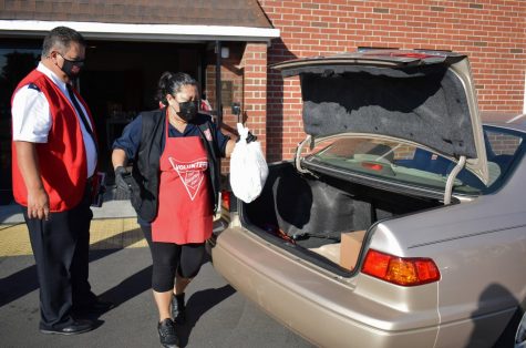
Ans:
<svg viewBox="0 0 526 348"><path fill-rule="evenodd" d="M303 127L394 136L458 162L484 183L488 168L467 57L443 51L365 50L274 64L299 75Z"/></svg>

